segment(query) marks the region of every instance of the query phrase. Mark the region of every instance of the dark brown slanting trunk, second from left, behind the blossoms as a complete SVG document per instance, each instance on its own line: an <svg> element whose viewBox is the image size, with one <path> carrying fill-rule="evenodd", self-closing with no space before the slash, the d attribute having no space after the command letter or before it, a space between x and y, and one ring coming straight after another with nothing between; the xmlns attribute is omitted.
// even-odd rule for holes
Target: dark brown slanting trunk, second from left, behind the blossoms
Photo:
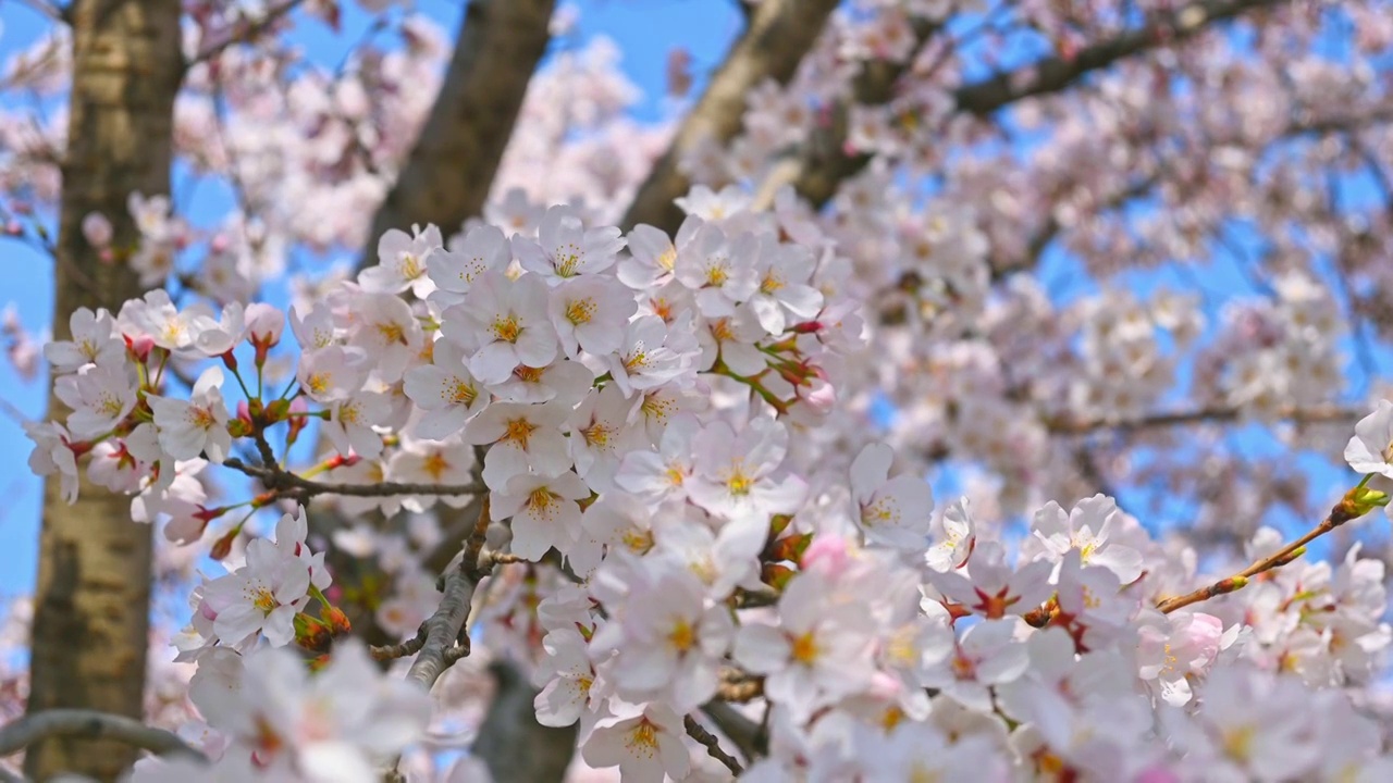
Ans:
<svg viewBox="0 0 1393 783"><path fill-rule="evenodd" d="M446 234L489 196L522 96L550 39L554 0L472 0L440 95L368 233L362 263L376 261L389 228L435 223Z"/></svg>

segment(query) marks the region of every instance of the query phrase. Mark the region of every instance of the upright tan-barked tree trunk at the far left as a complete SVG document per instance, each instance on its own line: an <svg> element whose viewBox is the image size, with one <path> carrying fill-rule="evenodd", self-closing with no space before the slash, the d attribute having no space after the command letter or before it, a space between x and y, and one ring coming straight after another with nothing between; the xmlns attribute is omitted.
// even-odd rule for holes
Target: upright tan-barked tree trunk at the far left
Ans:
<svg viewBox="0 0 1393 783"><path fill-rule="evenodd" d="M173 107L178 91L178 0L77 0L72 95L54 265L54 337L68 337L81 307L111 311L141 294L132 270L102 263L82 237L82 217L106 215L118 245L135 227L132 191L169 192ZM60 414L50 398L50 410ZM61 414L60 414L61 415ZM64 503L45 488L35 589L29 713L89 708L141 716L149 635L150 528L131 521L130 497L82 482ZM49 738L25 759L31 777L61 770L114 780L135 750L111 740Z"/></svg>

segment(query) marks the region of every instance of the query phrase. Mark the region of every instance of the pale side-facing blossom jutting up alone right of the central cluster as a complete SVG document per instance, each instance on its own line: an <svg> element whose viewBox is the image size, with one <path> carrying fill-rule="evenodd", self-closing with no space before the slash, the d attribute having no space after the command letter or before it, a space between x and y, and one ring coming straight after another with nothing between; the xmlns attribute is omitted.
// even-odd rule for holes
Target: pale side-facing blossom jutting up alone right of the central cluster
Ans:
<svg viewBox="0 0 1393 783"><path fill-rule="evenodd" d="M933 518L929 482L911 474L890 478L894 451L872 443L851 463L851 500L866 542L922 549Z"/></svg>

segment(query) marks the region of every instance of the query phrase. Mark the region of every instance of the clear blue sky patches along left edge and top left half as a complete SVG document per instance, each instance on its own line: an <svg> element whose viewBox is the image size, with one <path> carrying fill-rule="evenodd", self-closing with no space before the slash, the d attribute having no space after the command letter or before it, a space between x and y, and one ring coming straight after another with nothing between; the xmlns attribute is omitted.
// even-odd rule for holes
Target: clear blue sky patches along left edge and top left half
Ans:
<svg viewBox="0 0 1393 783"><path fill-rule="evenodd" d="M635 117L653 120L666 110L664 65L669 52L684 46L692 54L694 75L702 77L719 65L729 43L740 32L734 1L719 0L585 0L571 3L579 11L575 35L588 40L598 35L613 39L624 53L623 68L638 85L644 99ZM304 21L293 33L306 56L326 65L337 64L357 42L371 18L345 3L344 29L334 33L318 21ZM462 3L421 0L417 7L454 35ZM45 35L47 22L22 3L0 0L0 63ZM701 88L698 82L696 89ZM22 96L0 95L0 106L21 104ZM178 178L176 177L176 187ZM224 188L199 187L189 203L195 223L213 222L227 206ZM364 220L371 216L364 216ZM0 240L0 307L13 302L20 320L31 330L43 329L53 318L52 261L13 240ZM43 379L26 382L0 361L0 405L26 418L43 414ZM42 482L28 468L29 440L8 414L0 415L0 595L29 592L33 585Z"/></svg>

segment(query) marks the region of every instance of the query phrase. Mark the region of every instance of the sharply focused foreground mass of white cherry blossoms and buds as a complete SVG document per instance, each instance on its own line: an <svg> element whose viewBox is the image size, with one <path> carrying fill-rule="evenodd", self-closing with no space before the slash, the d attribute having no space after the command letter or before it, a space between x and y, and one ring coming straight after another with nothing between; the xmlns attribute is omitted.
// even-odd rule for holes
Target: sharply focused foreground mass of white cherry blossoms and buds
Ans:
<svg viewBox="0 0 1393 783"><path fill-rule="evenodd" d="M586 763L625 779L710 768L690 724L713 699L765 726L755 780L1389 773L1376 724L1343 691L1393 641L1382 563L1357 549L1307 563L1263 528L1252 578L1215 582L1192 609L1183 596L1209 581L1194 552L1110 497L1048 503L1013 541L967 499L935 513L890 446L862 436L850 465L816 464L864 336L848 262L788 199L755 212L698 187L680 205L676 237L624 235L567 206L536 208L535 230L389 231L378 265L291 308L299 354L279 396L276 308L180 309L157 290L116 316L79 311L72 340L45 348L71 412L31 428L31 465L74 497L85 460L181 543L304 482L414 488L344 497L350 513L486 495L490 542L525 563L485 582L483 635L528 666L538 719L578 722ZM170 392L174 368L209 359L187 394ZM233 410L228 376L245 397ZM1390 417L1382 404L1347 450L1367 476L1393 474ZM288 450L311 422L334 453L283 468L270 439ZM244 444L256 457L237 457ZM208 507L208 464L266 490ZM1330 524L1386 503L1365 478ZM212 536L215 556L245 521ZM425 694L347 638L302 511L231 560L194 591L176 639L198 665L191 697L217 769L372 779L419 738ZM422 574L398 577L405 592ZM389 627L405 635L428 612L398 606ZM326 656L322 672L305 674L293 642ZM138 775L169 779L173 763Z"/></svg>

